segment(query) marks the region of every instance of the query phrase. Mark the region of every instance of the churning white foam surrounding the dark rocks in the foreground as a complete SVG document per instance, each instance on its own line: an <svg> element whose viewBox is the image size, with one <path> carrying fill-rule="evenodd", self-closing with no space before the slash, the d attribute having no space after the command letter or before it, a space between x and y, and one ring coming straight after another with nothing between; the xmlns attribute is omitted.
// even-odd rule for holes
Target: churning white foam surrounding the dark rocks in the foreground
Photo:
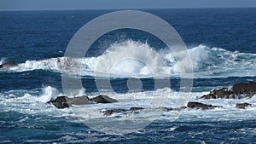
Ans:
<svg viewBox="0 0 256 144"><path fill-rule="evenodd" d="M38 91L39 90L39 91ZM35 91L39 94L35 95ZM83 90L82 90L83 91ZM205 95L208 92L191 93L191 97L188 101L199 101L206 104L212 104L213 106L222 106L222 108L214 108L212 110L185 110L181 113L178 121L193 121L193 120L204 120L204 121L215 121L215 120L242 120L242 119L253 119L256 118L256 95L252 98L246 99L216 99L216 100L201 100L197 99L201 95ZM81 95L83 93L81 92ZM45 87L43 89L32 89L32 90L10 90L5 93L0 93L0 109L2 112L15 111L23 114L39 114L49 115L52 117L77 117L78 113L74 112L73 108L56 109L53 105L47 104L46 102L54 99L56 96L62 95L53 87ZM84 95L84 94L83 94ZM90 95L96 96L98 94ZM96 109L95 113L84 115L86 118L106 118L103 116L102 110L110 108L125 108L130 107L173 107L175 106L173 100L177 98L178 92L172 89L157 89L155 91L135 92L127 94L115 94L105 93L103 95L109 95L110 97L117 99L119 102L110 104L94 104L91 107ZM163 101L164 99L164 101ZM158 101L157 100L161 100ZM248 102L252 106L247 109L237 109L236 103ZM185 105L185 104L184 104ZM84 105L81 107L89 107ZM75 110L79 110L81 107ZM158 119L170 119L172 112L165 112L159 110L161 116ZM147 111L148 118L155 118L155 111ZM143 113L143 112L142 112ZM122 113L113 114L110 117L130 118L131 115L125 115ZM139 117L140 115L136 115ZM134 116L131 116L134 118Z"/></svg>

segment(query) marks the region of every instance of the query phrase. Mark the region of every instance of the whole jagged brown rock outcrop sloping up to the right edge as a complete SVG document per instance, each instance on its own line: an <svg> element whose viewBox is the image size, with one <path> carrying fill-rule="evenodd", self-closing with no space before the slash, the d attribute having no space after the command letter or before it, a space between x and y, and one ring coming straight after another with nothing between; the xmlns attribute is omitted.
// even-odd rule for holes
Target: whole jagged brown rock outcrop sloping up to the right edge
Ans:
<svg viewBox="0 0 256 144"><path fill-rule="evenodd" d="M252 97L256 94L256 82L234 84L232 89L222 88L213 89L210 94L201 96L201 99L235 99L244 97Z"/></svg>

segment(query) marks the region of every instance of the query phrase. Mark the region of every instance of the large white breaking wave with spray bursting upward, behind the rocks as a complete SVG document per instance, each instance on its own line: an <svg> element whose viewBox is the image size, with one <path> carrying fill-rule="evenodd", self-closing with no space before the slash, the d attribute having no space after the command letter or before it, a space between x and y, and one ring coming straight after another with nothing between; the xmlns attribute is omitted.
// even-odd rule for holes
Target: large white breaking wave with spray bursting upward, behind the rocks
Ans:
<svg viewBox="0 0 256 144"><path fill-rule="evenodd" d="M188 49L188 53L195 78L256 76L256 54L231 52L205 45ZM177 60L181 65L177 65ZM174 57L170 50L155 51L148 43L127 40L123 43L113 43L103 55L97 57L26 60L11 70L24 72L42 69L61 72L62 68L62 72L81 76L178 77L180 73L189 72L188 60L190 59L184 52Z"/></svg>

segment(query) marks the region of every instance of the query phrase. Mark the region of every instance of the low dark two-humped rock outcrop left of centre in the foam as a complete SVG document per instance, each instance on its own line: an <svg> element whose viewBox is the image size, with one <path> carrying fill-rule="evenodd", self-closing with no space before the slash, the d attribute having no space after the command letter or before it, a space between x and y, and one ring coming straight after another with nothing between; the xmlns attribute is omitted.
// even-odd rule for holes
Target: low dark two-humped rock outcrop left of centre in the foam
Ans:
<svg viewBox="0 0 256 144"><path fill-rule="evenodd" d="M57 108L66 108L72 105L88 105L91 103L113 103L117 100L108 97L108 95L98 95L92 99L89 99L87 96L79 96L69 98L67 96L58 96L54 101L49 101Z"/></svg>

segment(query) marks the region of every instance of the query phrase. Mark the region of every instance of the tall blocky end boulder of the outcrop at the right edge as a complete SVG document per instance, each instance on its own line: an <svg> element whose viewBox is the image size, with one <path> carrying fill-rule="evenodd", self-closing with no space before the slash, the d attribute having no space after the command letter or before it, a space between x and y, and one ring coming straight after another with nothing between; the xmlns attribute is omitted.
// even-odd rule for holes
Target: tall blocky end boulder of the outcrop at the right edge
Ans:
<svg viewBox="0 0 256 144"><path fill-rule="evenodd" d="M245 97L252 97L256 94L256 82L234 84L232 87L236 95L245 95Z"/></svg>

